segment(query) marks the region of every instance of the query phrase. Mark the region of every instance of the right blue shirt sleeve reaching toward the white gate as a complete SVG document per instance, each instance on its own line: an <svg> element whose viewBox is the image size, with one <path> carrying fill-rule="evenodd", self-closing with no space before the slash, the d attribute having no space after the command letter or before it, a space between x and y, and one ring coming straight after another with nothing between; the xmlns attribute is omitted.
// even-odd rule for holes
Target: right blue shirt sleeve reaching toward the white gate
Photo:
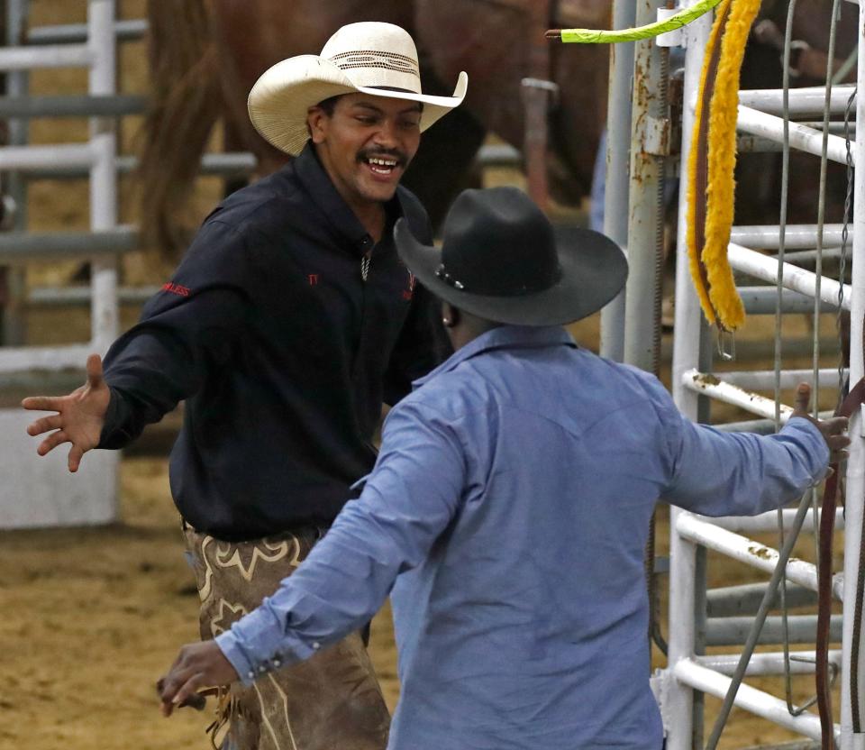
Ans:
<svg viewBox="0 0 865 750"><path fill-rule="evenodd" d="M660 383L651 398L667 437L662 497L704 516L753 516L800 498L822 480L829 447L807 419L778 434L724 433L682 416Z"/></svg>

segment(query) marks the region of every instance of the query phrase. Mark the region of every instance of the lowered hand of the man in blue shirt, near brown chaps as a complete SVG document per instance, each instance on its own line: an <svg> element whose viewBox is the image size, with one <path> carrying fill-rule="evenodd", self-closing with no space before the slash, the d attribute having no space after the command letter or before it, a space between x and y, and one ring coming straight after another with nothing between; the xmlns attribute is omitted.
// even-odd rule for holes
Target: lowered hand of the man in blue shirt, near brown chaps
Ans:
<svg viewBox="0 0 865 750"><path fill-rule="evenodd" d="M201 688L227 685L237 677L215 641L183 646L168 674L157 682L163 716L171 716L181 706L195 705Z"/></svg>

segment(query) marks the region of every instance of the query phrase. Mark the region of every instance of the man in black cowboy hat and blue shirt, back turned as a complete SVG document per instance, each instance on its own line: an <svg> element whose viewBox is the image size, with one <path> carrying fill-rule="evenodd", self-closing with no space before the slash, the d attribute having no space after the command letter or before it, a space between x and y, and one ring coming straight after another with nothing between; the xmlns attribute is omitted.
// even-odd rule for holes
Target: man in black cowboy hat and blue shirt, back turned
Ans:
<svg viewBox="0 0 865 750"><path fill-rule="evenodd" d="M467 191L443 247L405 224L405 264L457 350L387 417L360 498L263 606L187 645L163 710L337 641L391 593L402 698L388 747L659 749L642 551L660 496L708 515L796 498L849 444L842 418L776 435L693 425L651 375L561 324L615 296L603 235L553 229L514 188ZM326 596L323 596L326 593Z"/></svg>

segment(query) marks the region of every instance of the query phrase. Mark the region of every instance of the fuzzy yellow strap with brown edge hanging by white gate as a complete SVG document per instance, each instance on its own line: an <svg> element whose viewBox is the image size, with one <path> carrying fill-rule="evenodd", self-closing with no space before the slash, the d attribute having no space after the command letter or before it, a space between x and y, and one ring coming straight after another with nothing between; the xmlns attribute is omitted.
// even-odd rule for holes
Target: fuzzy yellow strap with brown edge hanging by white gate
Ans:
<svg viewBox="0 0 865 750"><path fill-rule="evenodd" d="M760 0L723 0L706 48L688 163L687 246L706 319L735 331L745 319L727 245L733 226L736 118L745 42Z"/></svg>

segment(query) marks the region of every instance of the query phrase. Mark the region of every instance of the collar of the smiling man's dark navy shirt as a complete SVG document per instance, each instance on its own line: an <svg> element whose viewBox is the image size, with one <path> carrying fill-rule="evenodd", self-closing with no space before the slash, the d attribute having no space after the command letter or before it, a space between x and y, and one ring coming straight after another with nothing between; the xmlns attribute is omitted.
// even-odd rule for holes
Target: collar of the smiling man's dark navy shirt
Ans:
<svg viewBox="0 0 865 750"><path fill-rule="evenodd" d="M318 160L311 141L306 142L304 150L296 156L292 163L297 178L300 179L306 192L313 197L316 206L321 208L324 215L330 220L332 227L360 255L372 250L375 242L334 187L330 176ZM396 196L385 204L388 227L393 226L396 219L404 214L405 206L403 206L403 197L400 192L400 188L396 188Z"/></svg>

